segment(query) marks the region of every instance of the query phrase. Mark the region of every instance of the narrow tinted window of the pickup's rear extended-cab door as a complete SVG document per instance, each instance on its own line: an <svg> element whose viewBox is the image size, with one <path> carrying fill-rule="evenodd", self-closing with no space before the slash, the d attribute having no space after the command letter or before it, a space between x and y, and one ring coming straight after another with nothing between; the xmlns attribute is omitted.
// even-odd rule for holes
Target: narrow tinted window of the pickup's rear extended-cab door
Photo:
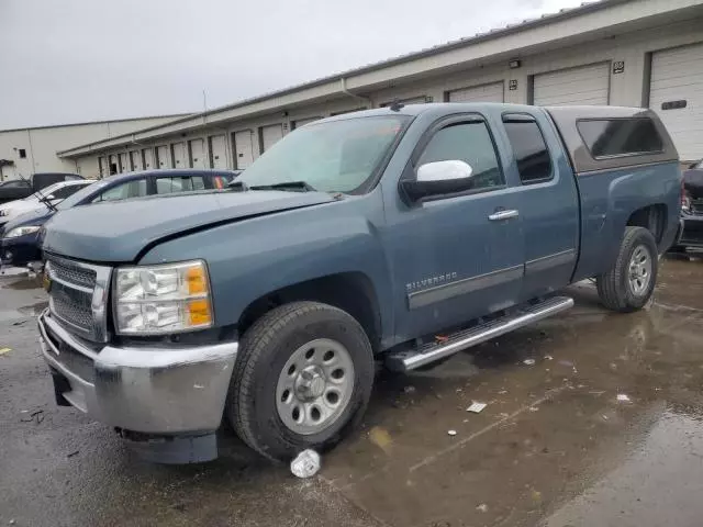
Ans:
<svg viewBox="0 0 703 527"><path fill-rule="evenodd" d="M551 158L537 123L527 117L503 119L523 184L551 179Z"/></svg>

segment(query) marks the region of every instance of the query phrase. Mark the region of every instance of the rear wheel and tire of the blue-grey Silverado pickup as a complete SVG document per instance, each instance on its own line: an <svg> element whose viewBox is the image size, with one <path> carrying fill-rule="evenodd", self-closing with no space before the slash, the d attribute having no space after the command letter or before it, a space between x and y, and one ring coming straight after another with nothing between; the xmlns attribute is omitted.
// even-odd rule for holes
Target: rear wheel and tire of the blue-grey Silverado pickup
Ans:
<svg viewBox="0 0 703 527"><path fill-rule="evenodd" d="M626 227L615 265L596 279L601 302L621 313L647 305L657 283L658 256L651 232Z"/></svg>

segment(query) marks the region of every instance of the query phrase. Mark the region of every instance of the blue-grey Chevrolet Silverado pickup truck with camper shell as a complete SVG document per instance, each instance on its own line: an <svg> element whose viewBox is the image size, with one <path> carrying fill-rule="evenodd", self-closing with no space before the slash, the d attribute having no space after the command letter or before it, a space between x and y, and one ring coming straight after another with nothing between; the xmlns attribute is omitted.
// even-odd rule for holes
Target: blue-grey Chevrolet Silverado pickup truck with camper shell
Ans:
<svg viewBox="0 0 703 527"><path fill-rule="evenodd" d="M358 424L376 362L426 368L568 310L645 306L680 229L644 109L395 103L289 134L227 192L74 208L45 227L58 404L159 462L223 422L288 460Z"/></svg>

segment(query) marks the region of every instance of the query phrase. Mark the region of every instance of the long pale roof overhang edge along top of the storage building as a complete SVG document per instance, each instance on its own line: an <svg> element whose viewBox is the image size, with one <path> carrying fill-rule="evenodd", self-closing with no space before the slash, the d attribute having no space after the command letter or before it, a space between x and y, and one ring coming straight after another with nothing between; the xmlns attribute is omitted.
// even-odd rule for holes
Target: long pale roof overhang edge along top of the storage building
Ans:
<svg viewBox="0 0 703 527"><path fill-rule="evenodd" d="M376 89L392 87L420 77L440 75L555 47L617 36L656 27L703 13L701 0L603 0L562 10L540 19L450 42L419 53L317 79L208 112L177 119L134 133L77 146L57 155L63 158L103 153L130 144L183 134L199 127L226 126L237 120L281 113L322 101L333 101Z"/></svg>

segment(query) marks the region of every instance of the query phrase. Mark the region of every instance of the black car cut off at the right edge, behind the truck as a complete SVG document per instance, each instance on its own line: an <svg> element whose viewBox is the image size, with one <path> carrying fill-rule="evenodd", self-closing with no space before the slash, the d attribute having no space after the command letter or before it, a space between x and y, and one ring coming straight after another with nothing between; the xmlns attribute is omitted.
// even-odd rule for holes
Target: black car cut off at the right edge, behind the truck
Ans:
<svg viewBox="0 0 703 527"><path fill-rule="evenodd" d="M683 172L681 220L683 229L673 253L689 248L703 248L703 160L694 162Z"/></svg>

